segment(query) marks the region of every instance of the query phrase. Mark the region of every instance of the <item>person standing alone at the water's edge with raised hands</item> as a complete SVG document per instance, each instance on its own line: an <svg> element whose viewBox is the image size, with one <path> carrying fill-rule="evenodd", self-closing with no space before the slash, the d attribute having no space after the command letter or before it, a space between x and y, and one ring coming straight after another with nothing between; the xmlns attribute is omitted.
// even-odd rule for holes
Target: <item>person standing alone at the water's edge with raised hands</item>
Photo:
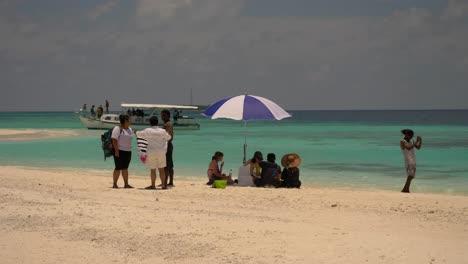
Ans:
<svg viewBox="0 0 468 264"><path fill-rule="evenodd" d="M412 139L414 136L414 132L411 129L403 129L401 133L405 136L400 141L400 148L403 151L403 157L405 158L406 174L408 175L405 187L403 187L403 190L401 190L401 192L409 193L411 181L416 176L416 154L414 152L414 148L421 149L422 138L418 136L416 138L416 142L414 142Z"/></svg>

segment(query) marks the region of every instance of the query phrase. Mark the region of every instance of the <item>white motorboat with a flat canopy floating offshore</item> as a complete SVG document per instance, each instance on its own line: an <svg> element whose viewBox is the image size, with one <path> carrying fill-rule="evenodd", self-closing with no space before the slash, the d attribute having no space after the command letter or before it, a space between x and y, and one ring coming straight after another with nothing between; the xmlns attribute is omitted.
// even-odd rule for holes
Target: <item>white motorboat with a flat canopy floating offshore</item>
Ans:
<svg viewBox="0 0 468 264"><path fill-rule="evenodd" d="M120 125L120 114L128 114L130 116L131 127L141 130L149 127L149 119L152 116L157 116L160 125L162 120L160 113L163 109L171 111L171 121L176 130L198 130L200 123L185 112L194 112L198 110L197 106L187 105L164 105L164 104L121 104L122 113L105 113L98 117L96 113L92 114L89 111L81 110L78 112L78 117L81 123L88 129L111 129Z"/></svg>

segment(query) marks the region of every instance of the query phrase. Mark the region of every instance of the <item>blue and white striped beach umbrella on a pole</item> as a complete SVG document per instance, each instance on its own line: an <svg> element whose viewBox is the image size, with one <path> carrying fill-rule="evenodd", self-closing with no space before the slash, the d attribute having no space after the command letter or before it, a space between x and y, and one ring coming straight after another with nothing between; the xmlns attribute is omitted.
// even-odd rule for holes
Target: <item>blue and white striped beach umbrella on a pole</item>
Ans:
<svg viewBox="0 0 468 264"><path fill-rule="evenodd" d="M244 162L247 153L247 121L281 120L291 117L274 102L255 95L239 95L221 99L208 107L203 115L211 119L227 118L244 121Z"/></svg>

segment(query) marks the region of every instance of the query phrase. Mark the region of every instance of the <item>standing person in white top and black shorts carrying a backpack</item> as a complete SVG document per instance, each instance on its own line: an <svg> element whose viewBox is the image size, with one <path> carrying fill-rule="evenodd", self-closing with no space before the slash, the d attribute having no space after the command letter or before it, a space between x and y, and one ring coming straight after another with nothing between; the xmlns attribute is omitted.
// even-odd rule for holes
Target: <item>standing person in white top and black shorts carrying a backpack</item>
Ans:
<svg viewBox="0 0 468 264"><path fill-rule="evenodd" d="M112 188L119 188L117 182L120 174L124 180L124 188L133 188L128 184L128 167L132 160L132 139L133 130L130 127L130 117L122 114L119 116L120 125L112 130L112 145L114 146L114 163L115 169L113 173L114 184Z"/></svg>

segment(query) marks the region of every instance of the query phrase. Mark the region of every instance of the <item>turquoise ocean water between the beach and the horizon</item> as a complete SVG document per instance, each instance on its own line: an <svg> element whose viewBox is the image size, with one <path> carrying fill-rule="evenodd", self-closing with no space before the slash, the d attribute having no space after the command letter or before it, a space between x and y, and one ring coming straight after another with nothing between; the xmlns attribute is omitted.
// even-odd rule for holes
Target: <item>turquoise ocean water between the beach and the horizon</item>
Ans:
<svg viewBox="0 0 468 264"><path fill-rule="evenodd" d="M468 194L468 110L451 111L292 111L282 121L248 122L248 158L296 152L302 159L301 179L313 186L399 191L406 179L399 149L400 130L423 137L417 151L418 170L412 190ZM225 155L225 170L242 163L244 125L210 120L195 114L199 131L176 131L174 162L178 175L206 177L215 151ZM103 131L87 130L72 112L0 113L0 129L74 131L54 139L0 139L0 165L71 170L113 169L100 149ZM136 148L135 148L136 149ZM131 175L146 175L134 152Z"/></svg>

